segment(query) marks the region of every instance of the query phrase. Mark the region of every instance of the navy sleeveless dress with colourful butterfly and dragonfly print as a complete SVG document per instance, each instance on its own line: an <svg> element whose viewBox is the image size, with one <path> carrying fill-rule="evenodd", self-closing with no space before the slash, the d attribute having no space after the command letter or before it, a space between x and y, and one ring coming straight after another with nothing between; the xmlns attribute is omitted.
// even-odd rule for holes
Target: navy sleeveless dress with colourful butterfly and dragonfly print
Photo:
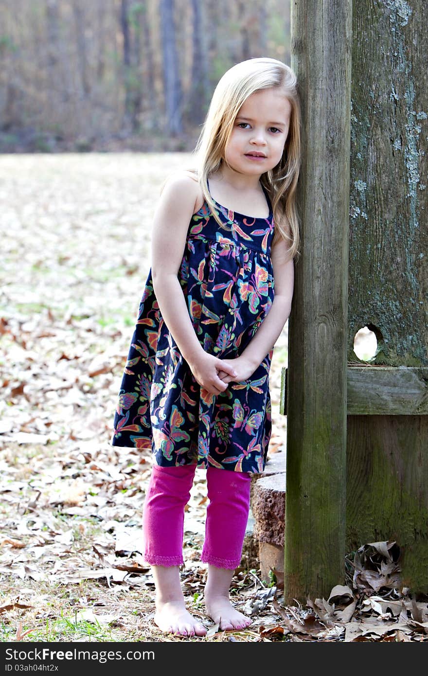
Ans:
<svg viewBox="0 0 428 676"><path fill-rule="evenodd" d="M214 199L193 214L179 281L199 343L218 358L239 356L274 298L268 218L227 210ZM151 449L162 466L196 464L235 472L264 470L272 431L269 370L273 348L252 376L218 395L201 388L168 331L151 268L124 368L111 443Z"/></svg>

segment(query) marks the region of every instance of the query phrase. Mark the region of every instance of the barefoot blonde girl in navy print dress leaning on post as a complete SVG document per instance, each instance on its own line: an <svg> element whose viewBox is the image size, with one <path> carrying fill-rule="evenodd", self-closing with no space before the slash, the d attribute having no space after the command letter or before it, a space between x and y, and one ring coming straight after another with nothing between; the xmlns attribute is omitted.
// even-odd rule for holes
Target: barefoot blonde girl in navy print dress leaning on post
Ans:
<svg viewBox="0 0 428 676"><path fill-rule="evenodd" d="M206 612L220 629L251 621L233 608L252 473L271 433L269 368L291 308L299 254L295 189L300 106L288 66L249 59L222 76L196 147L196 168L166 180L151 269L124 370L112 444L151 449L145 560L162 631L204 635L181 591L184 508L207 469ZM275 291L274 291L275 287Z"/></svg>

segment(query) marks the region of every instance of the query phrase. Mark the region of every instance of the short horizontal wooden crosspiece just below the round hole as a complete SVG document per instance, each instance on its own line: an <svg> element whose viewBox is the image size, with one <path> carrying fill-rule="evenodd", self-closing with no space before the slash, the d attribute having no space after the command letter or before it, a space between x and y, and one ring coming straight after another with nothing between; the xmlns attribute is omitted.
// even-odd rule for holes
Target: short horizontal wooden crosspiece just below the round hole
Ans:
<svg viewBox="0 0 428 676"><path fill-rule="evenodd" d="M428 368L348 366L348 414L427 415Z"/></svg>

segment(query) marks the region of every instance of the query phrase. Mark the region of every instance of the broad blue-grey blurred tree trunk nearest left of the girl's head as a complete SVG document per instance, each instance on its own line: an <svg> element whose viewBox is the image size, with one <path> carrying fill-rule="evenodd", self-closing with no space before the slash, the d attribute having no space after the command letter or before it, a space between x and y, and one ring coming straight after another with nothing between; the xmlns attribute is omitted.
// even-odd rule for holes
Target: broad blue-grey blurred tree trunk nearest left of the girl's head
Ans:
<svg viewBox="0 0 428 676"><path fill-rule="evenodd" d="M176 53L174 0L160 0L160 21L164 70L166 129L172 135L183 130L181 120L181 80Z"/></svg>

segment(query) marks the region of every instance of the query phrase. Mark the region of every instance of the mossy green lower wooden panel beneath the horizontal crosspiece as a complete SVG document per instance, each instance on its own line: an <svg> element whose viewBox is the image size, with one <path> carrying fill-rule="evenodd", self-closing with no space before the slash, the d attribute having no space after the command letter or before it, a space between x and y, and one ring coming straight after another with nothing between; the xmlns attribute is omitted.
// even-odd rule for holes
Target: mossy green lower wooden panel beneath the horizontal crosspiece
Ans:
<svg viewBox="0 0 428 676"><path fill-rule="evenodd" d="M346 550L396 540L402 585L428 594L427 416L348 416Z"/></svg>

